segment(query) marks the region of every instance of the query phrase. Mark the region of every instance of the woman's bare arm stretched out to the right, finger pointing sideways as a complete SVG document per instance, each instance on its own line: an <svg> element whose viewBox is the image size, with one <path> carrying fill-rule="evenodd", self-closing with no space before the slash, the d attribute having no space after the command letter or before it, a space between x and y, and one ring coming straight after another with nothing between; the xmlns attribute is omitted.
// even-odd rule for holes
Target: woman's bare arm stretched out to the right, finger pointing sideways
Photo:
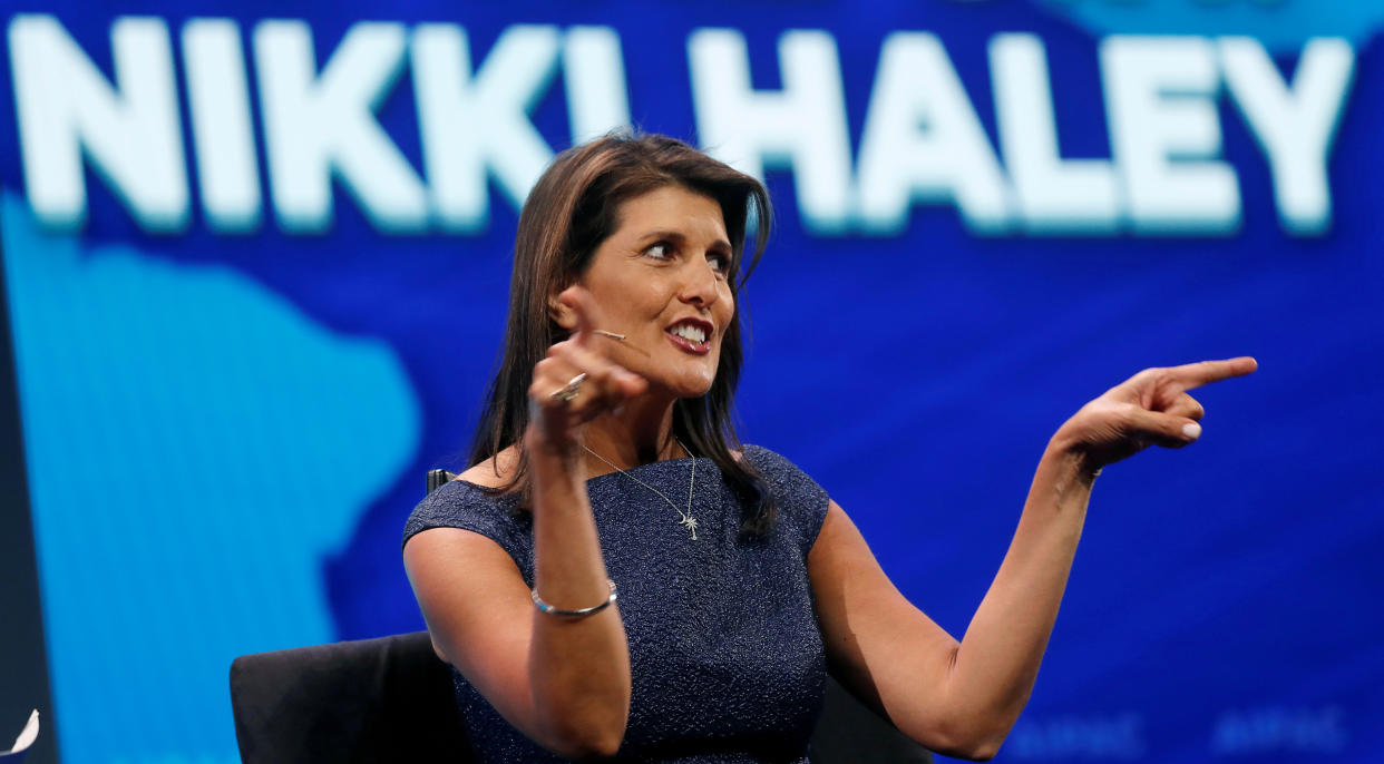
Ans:
<svg viewBox="0 0 1384 764"><path fill-rule="evenodd" d="M832 502L808 556L833 673L922 745L963 758L998 750L1028 702L1100 468L1150 443L1196 440L1199 385L1253 358L1149 370L1082 407L1049 442L1009 551L960 642L889 581Z"/></svg>

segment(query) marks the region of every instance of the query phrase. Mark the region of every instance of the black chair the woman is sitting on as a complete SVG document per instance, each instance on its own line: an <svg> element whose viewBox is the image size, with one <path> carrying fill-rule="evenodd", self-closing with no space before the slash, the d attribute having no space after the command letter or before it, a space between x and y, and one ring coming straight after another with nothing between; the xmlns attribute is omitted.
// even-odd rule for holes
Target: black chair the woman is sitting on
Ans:
<svg viewBox="0 0 1384 764"><path fill-rule="evenodd" d="M428 491L454 475L428 473ZM426 631L244 655L231 663L242 764L473 761L451 668ZM931 754L828 677L814 764L927 764Z"/></svg>

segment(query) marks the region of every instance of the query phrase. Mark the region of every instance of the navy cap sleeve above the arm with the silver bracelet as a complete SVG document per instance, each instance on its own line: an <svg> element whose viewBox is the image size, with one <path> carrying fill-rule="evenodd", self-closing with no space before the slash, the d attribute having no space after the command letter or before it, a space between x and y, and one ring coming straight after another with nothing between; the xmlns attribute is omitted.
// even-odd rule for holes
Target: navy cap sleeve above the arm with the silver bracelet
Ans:
<svg viewBox="0 0 1384 764"><path fill-rule="evenodd" d="M513 558L526 581L533 579L533 520L516 509L516 497L493 495L464 480L443 483L404 523L404 544L435 527L459 527L490 538Z"/></svg>

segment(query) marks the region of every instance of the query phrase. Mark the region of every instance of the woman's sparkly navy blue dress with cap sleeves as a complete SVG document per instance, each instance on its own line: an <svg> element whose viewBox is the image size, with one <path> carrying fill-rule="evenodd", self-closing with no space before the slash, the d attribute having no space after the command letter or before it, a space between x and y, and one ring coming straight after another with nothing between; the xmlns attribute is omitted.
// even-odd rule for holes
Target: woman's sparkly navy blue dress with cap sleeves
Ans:
<svg viewBox="0 0 1384 764"><path fill-rule="evenodd" d="M739 540L742 508L710 460L696 460L696 540L649 489L612 472L587 482L606 572L620 588L632 696L619 761L807 763L826 682L807 552L826 493L783 457L745 447L768 480L778 522ZM682 505L692 460L628 471ZM454 480L408 518L404 543L430 527L473 530L533 585L533 522L515 495ZM482 761L561 761L507 722L455 670L457 703Z"/></svg>

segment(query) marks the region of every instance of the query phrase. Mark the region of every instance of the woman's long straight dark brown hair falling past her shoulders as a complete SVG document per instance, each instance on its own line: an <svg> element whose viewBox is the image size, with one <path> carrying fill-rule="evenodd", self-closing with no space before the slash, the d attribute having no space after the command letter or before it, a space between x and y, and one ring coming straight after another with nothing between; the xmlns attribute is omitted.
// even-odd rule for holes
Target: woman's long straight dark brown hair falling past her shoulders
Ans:
<svg viewBox="0 0 1384 764"><path fill-rule="evenodd" d="M728 281L739 296L770 235L770 195L758 180L718 162L691 145L664 136L613 134L563 151L529 192L515 235L513 277L509 282L509 320L500 371L490 386L486 410L476 426L469 465L516 446L519 461L508 484L529 498L529 457L523 433L529 426L529 385L533 367L548 347L567 338L549 311L549 298L574 284L597 248L619 224L620 205L666 185L704 194L721 206L731 238ZM753 215L753 220L750 216ZM756 228L754 252L745 257L747 224ZM711 389L673 406L673 435L693 453L711 460L747 508L740 523L745 537L765 533L776 513L772 493L749 461L736 460L735 388L745 354L740 311L721 340L721 360ZM497 465L498 469L498 465Z"/></svg>

